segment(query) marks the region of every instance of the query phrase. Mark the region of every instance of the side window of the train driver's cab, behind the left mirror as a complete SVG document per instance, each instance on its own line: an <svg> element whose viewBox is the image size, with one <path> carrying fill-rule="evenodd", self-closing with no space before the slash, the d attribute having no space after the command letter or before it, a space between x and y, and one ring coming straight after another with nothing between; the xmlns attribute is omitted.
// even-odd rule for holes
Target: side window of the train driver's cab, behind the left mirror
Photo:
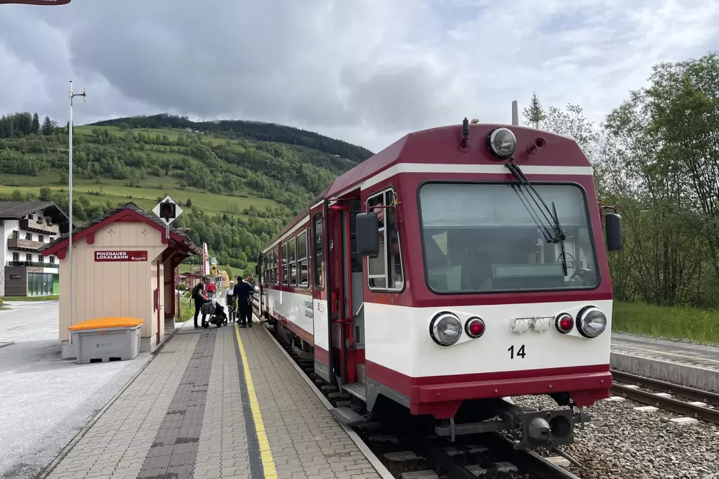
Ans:
<svg viewBox="0 0 719 479"><path fill-rule="evenodd" d="M391 188L367 199L369 211L373 211L373 206L388 206L394 203L395 192ZM398 291L404 287L404 271L396 208L377 208L374 211L380 220L380 251L374 257L367 257L370 289Z"/></svg>

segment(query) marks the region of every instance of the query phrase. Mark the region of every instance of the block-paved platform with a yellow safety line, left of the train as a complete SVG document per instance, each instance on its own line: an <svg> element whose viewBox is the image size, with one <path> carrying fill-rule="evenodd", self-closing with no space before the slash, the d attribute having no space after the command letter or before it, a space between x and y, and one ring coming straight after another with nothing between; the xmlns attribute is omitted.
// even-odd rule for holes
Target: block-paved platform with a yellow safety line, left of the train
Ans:
<svg viewBox="0 0 719 479"><path fill-rule="evenodd" d="M264 325L188 321L41 477L383 477L377 470Z"/></svg>

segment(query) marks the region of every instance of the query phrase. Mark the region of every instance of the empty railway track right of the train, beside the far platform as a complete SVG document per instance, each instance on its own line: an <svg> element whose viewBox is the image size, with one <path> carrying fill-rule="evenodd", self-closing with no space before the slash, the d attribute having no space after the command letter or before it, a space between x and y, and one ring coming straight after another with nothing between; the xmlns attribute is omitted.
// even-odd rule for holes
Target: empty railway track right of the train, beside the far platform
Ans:
<svg viewBox="0 0 719 479"><path fill-rule="evenodd" d="M667 411L677 414L683 414L695 417L701 421L719 424L719 409L712 409L707 406L719 406L719 394L710 391L701 391L700 389L690 388L687 386L679 386L677 384L667 383L665 381L644 378L644 376L622 373L621 371L612 370L614 380L622 383L628 383L633 386L648 389L650 391L641 391L636 387L622 386L615 384L612 386L612 392L617 396L624 396L651 406L657 406ZM651 392L659 391L659 393ZM682 401L674 397L659 396L661 393L676 394L682 398L691 399L692 401Z"/></svg>

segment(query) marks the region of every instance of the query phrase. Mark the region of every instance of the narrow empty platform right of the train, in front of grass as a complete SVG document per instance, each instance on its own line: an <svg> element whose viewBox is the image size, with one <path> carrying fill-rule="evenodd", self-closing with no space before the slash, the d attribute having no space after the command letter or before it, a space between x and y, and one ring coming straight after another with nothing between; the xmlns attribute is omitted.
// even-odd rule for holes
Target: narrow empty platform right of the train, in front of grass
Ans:
<svg viewBox="0 0 719 479"><path fill-rule="evenodd" d="M613 370L719 393L719 347L612 333Z"/></svg>

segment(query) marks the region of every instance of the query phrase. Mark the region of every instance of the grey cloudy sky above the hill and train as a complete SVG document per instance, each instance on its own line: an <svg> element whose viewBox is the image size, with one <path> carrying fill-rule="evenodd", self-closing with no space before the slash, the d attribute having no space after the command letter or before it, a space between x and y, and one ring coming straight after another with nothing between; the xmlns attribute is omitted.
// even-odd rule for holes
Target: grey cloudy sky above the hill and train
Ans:
<svg viewBox="0 0 719 479"><path fill-rule="evenodd" d="M651 66L719 48L715 0L72 0L0 5L0 110L75 124L169 111L380 150L533 91L596 122Z"/></svg>

